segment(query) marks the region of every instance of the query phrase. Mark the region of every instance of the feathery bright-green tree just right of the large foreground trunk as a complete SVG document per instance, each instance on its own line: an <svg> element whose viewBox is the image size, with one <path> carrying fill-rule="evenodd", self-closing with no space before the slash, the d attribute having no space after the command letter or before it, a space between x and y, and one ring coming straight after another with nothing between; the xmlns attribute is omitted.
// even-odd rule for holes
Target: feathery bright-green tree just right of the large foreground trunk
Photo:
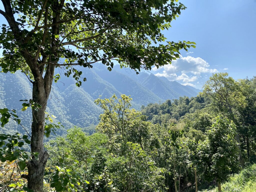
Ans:
<svg viewBox="0 0 256 192"><path fill-rule="evenodd" d="M50 160L46 165L45 180L56 191L97 191L98 187L104 191L112 191L110 178L101 161L104 159L102 153L106 151L104 145L107 141L104 134L94 133L88 136L76 126L67 131L66 138L51 140L50 145L46 145ZM92 169L94 163L97 166L94 165ZM102 174L104 178L98 178ZM98 186L95 185L95 180L98 181Z"/></svg>

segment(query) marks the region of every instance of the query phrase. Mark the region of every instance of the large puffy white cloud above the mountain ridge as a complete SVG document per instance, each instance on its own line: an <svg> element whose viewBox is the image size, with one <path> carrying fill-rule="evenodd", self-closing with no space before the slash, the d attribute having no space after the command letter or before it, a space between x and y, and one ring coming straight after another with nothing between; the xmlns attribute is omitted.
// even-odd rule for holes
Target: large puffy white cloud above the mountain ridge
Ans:
<svg viewBox="0 0 256 192"><path fill-rule="evenodd" d="M204 59L191 56L181 56L179 59L173 60L172 64L164 65L158 69L154 67L153 71L159 71L155 74L158 77L166 77L170 81L177 80L185 83L194 82L201 78L201 73L218 72L217 69L211 69L209 63ZM177 73L181 73L181 75L177 75Z"/></svg>

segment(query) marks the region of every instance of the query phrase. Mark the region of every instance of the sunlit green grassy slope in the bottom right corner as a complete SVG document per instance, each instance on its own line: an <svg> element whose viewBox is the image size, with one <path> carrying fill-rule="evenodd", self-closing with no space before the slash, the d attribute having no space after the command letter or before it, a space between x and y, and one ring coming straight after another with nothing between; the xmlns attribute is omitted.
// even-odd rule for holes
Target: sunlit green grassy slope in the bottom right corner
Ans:
<svg viewBox="0 0 256 192"><path fill-rule="evenodd" d="M221 184L222 192L256 192L256 164L250 165L239 174L229 178ZM203 190L202 192L218 192L218 188Z"/></svg>

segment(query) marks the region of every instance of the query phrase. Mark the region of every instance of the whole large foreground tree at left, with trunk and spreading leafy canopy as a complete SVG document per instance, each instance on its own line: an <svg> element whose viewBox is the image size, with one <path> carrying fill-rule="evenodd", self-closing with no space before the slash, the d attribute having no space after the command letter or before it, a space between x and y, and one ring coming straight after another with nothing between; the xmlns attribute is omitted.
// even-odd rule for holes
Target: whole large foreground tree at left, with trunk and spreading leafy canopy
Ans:
<svg viewBox="0 0 256 192"><path fill-rule="evenodd" d="M174 0L1 0L3 10L0 44L3 72L22 71L33 84L30 103L31 152L27 162L28 188L42 191L49 155L44 149L45 109L52 82L59 79L55 68L81 85L81 72L74 66L92 68L113 61L135 71L163 66L179 57L179 50L193 42L166 41L161 30L186 7ZM62 58L62 59L60 59ZM84 79L85 80L85 79Z"/></svg>

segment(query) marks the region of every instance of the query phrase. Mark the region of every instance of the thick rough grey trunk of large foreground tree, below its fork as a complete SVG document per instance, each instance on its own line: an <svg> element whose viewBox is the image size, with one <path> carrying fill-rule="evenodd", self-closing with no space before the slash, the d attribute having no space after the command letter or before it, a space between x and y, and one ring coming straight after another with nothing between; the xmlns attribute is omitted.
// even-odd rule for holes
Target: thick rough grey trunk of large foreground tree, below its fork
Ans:
<svg viewBox="0 0 256 192"><path fill-rule="evenodd" d="M41 108L36 111L32 110L32 126L31 126L31 152L38 153L38 158L32 156L28 161L28 188L34 192L43 191L44 171L49 157L44 149L44 125L45 125L45 110L49 94L45 92L44 83L42 81L33 82L33 101L40 104Z"/></svg>

